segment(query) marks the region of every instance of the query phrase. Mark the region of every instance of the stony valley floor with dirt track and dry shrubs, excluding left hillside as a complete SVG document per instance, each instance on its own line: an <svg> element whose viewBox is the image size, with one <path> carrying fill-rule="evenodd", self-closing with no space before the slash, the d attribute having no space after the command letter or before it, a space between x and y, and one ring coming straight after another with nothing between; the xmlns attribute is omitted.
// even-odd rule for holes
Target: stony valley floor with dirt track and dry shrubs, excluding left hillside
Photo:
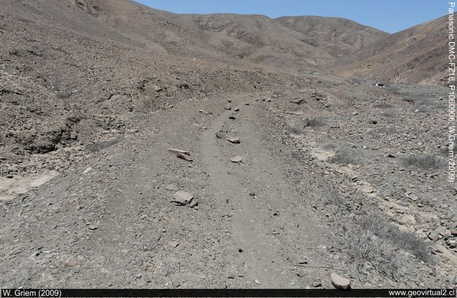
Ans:
<svg viewBox="0 0 457 298"><path fill-rule="evenodd" d="M1 283L331 287L336 272L352 287L455 287L456 189L430 121L441 90L307 80L184 101L81 149L2 203ZM195 198L173 202L178 190Z"/></svg>

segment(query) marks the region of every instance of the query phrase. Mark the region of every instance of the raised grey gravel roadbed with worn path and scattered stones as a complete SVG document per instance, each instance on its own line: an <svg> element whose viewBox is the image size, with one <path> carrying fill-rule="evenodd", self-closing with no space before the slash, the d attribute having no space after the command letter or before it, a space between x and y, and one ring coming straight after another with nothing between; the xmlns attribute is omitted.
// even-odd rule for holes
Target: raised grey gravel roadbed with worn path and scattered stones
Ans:
<svg viewBox="0 0 457 298"><path fill-rule="evenodd" d="M243 94L193 101L139 119L136 135L5 205L1 240L8 273L1 284L328 283L325 270L304 271L307 264L333 266L313 197L302 195L297 183L310 174L280 149L281 131L266 129L260 99ZM227 141L229 135L240 143ZM190 151L193 162L168 153L170 147ZM231 162L236 155L243 162ZM300 177L293 176L297 171ZM195 193L198 207L170 202L176 191L166 189L170 184Z"/></svg>

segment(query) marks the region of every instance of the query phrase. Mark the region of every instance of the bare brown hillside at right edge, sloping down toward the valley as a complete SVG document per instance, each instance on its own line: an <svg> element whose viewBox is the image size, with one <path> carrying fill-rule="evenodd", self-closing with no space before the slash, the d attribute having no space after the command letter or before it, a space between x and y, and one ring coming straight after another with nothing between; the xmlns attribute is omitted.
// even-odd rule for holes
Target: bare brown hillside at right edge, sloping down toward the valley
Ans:
<svg viewBox="0 0 457 298"><path fill-rule="evenodd" d="M444 84L446 16L397 32L345 60L340 74L391 82Z"/></svg>

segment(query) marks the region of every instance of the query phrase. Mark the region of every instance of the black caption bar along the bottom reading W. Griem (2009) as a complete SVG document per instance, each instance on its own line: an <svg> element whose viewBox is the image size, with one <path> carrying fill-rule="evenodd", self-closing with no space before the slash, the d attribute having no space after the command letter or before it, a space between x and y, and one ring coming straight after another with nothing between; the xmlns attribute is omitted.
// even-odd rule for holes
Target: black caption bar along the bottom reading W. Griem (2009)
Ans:
<svg viewBox="0 0 457 298"><path fill-rule="evenodd" d="M456 289L1 289L1 297L456 297Z"/></svg>

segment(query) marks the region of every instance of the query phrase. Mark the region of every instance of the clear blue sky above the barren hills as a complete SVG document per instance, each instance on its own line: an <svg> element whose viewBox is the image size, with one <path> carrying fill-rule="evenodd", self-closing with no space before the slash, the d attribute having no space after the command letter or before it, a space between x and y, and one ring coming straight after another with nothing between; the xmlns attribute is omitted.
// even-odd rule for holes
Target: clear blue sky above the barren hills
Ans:
<svg viewBox="0 0 457 298"><path fill-rule="evenodd" d="M321 15L354 20L385 32L398 32L446 15L446 0L135 0L172 13Z"/></svg>

